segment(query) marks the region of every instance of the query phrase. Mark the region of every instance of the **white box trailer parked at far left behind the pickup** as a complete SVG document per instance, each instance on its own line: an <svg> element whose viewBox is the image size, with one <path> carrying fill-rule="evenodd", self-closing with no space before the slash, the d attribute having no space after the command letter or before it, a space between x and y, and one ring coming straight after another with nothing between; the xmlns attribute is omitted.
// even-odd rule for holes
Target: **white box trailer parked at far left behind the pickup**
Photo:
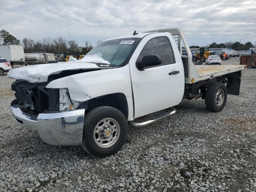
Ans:
<svg viewBox="0 0 256 192"><path fill-rule="evenodd" d="M14 64L23 65L25 62L24 48L22 45L1 45L0 57L6 58L12 66Z"/></svg>

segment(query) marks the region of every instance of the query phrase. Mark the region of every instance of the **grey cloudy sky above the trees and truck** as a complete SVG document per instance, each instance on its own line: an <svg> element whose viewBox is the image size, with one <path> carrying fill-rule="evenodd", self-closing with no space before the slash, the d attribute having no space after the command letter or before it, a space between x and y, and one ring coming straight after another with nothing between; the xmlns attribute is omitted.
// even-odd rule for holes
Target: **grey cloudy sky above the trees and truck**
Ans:
<svg viewBox="0 0 256 192"><path fill-rule="evenodd" d="M256 42L256 0L0 0L0 30L16 38L97 40L181 28L188 44Z"/></svg>

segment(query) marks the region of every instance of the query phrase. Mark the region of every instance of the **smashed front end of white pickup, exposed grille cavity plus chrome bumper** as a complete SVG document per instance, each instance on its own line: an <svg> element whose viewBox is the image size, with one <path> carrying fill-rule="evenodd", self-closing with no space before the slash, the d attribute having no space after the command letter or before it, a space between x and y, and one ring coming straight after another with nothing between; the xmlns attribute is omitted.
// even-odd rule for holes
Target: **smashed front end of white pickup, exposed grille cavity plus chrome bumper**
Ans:
<svg viewBox="0 0 256 192"><path fill-rule="evenodd" d="M55 145L79 145L82 142L84 109L72 102L67 88L46 88L47 83L16 80L11 86L16 99L12 114L18 124L36 130L40 138Z"/></svg>

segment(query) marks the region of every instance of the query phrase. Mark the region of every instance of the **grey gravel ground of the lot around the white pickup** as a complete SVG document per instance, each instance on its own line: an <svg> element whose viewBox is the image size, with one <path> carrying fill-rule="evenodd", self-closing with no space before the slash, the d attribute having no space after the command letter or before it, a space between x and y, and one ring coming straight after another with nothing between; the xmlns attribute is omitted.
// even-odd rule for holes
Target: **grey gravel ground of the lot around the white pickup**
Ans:
<svg viewBox="0 0 256 192"><path fill-rule="evenodd" d="M228 63L227 63L228 64ZM218 113L183 100L177 113L130 128L114 156L52 146L16 124L10 84L0 77L0 191L256 191L256 69Z"/></svg>

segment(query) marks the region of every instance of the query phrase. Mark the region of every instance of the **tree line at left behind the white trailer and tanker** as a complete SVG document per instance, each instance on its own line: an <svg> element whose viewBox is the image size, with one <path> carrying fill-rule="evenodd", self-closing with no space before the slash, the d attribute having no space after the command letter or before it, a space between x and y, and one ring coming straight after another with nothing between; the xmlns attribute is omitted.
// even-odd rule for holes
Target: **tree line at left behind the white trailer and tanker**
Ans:
<svg viewBox="0 0 256 192"><path fill-rule="evenodd" d="M97 44L102 40L98 40ZM86 54L92 50L93 46L89 41L84 41L84 46L78 47L76 40L66 40L63 37L43 38L42 40L33 40L31 38L23 38L18 40L6 30L0 30L0 45L23 45L24 53L48 52L54 54L62 54L70 52L71 55L76 55L76 51L81 51Z"/></svg>

